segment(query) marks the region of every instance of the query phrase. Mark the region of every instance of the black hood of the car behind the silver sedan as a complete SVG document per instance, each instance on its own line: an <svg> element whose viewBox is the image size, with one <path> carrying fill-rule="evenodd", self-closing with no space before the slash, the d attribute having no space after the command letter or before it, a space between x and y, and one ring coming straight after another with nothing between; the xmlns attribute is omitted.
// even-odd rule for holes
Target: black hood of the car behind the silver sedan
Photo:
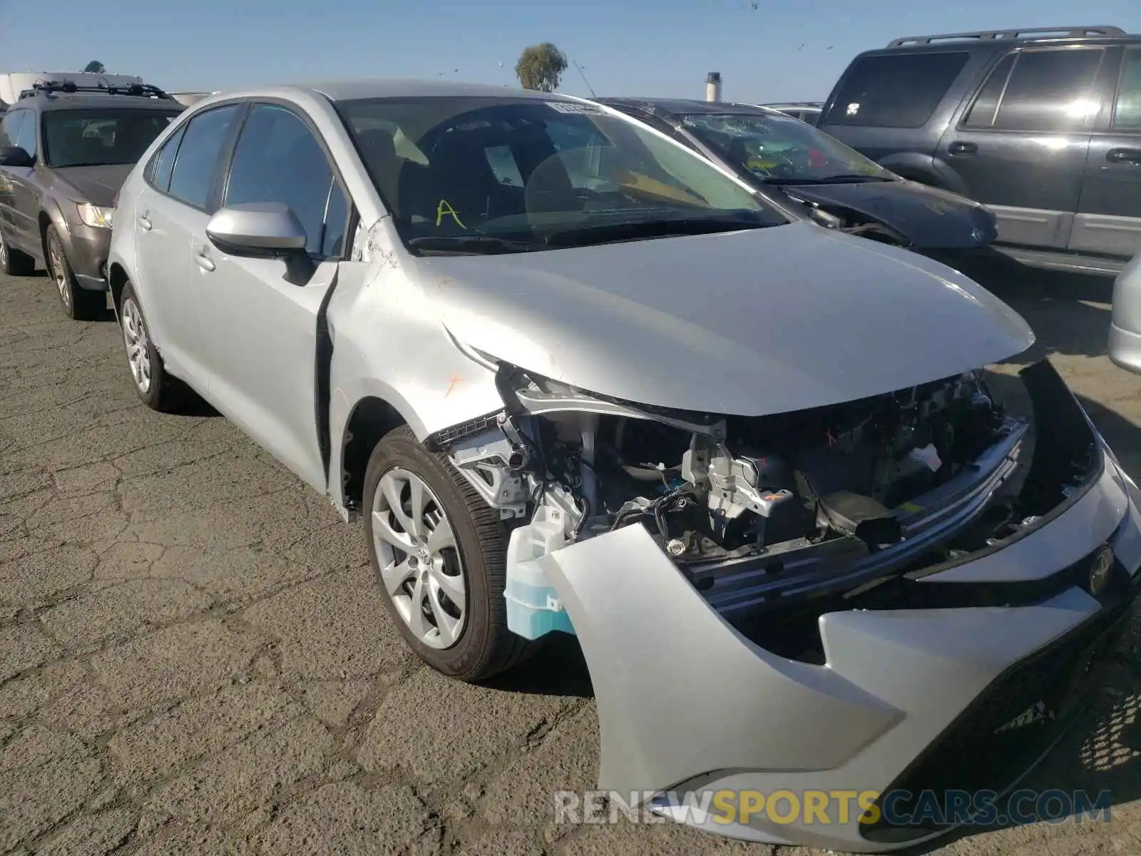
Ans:
<svg viewBox="0 0 1141 856"><path fill-rule="evenodd" d="M877 220L916 249L974 249L998 237L993 212L963 196L915 181L788 185L780 189L826 211L849 209Z"/></svg>

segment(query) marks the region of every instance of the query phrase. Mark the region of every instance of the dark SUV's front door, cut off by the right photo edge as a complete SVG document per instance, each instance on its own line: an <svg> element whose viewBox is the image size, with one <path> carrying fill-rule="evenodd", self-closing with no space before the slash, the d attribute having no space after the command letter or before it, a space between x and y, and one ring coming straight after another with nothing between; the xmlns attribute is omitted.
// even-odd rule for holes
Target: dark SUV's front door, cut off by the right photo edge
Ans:
<svg viewBox="0 0 1141 856"><path fill-rule="evenodd" d="M1112 57L1069 249L1127 258L1141 252L1141 45Z"/></svg>

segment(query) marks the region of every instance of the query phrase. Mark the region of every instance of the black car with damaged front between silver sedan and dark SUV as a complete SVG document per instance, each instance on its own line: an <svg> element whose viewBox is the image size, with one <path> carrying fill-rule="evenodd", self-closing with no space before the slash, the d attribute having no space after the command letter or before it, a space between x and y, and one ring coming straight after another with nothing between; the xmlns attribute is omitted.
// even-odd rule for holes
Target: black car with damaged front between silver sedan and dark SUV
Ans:
<svg viewBox="0 0 1141 856"><path fill-rule="evenodd" d="M909 181L812 126L768 107L679 99L600 98L825 226L919 252L977 252L996 235L978 202Z"/></svg>

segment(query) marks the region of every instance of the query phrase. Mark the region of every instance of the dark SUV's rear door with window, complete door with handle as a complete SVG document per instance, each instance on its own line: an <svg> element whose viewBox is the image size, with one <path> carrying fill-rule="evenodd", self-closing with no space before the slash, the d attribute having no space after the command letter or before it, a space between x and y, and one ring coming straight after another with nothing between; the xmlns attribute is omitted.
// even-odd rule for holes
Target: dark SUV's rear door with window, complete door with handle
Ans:
<svg viewBox="0 0 1141 856"><path fill-rule="evenodd" d="M1099 47L1028 48L998 62L940 156L998 217L998 241L1066 249L1098 114Z"/></svg>

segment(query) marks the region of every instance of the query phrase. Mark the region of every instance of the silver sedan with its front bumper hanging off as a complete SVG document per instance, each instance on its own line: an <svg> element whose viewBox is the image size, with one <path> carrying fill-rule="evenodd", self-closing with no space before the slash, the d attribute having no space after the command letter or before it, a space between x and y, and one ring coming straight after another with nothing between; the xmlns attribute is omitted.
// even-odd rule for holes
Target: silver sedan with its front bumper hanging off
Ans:
<svg viewBox="0 0 1141 856"><path fill-rule="evenodd" d="M578 637L600 788L905 798L709 831L945 832L907 792L1004 792L1133 608L1141 493L1049 361L1033 452L987 389L1034 341L1017 313L606 106L213 96L123 185L110 282L139 397L189 385L361 518L424 662L477 680Z"/></svg>

